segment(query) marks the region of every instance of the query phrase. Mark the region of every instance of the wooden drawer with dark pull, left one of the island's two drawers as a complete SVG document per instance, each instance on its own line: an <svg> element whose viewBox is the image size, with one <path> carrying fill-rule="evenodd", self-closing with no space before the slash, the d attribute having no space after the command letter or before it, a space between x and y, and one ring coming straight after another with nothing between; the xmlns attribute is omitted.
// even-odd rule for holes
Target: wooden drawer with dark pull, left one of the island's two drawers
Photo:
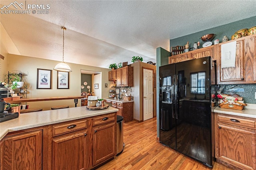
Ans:
<svg viewBox="0 0 256 170"><path fill-rule="evenodd" d="M84 121L71 121L60 123L58 125L52 126L52 136L58 136L60 134L65 134L69 132L74 132L76 130L80 130L82 128L87 128L87 120Z"/></svg>

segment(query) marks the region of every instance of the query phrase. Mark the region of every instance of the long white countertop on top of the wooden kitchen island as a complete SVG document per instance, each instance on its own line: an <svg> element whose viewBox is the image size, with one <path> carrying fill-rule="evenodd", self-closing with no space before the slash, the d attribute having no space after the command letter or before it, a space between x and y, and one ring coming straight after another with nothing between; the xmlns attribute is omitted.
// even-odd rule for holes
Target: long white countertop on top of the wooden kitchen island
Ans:
<svg viewBox="0 0 256 170"><path fill-rule="evenodd" d="M85 106L83 106L71 107L67 109L22 113L16 119L0 123L0 140L4 138L8 132L12 131L51 125L54 123L72 121L117 111L118 109L113 107L108 107L107 109L102 110L88 110Z"/></svg>

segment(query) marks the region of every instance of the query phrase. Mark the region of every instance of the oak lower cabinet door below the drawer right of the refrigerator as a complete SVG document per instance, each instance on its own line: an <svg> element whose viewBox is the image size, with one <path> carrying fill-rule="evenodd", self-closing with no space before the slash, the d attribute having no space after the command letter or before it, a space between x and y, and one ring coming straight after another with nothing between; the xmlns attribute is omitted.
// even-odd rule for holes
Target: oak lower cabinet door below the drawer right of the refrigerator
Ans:
<svg viewBox="0 0 256 170"><path fill-rule="evenodd" d="M218 123L216 158L243 170L256 169L256 132L253 129Z"/></svg>

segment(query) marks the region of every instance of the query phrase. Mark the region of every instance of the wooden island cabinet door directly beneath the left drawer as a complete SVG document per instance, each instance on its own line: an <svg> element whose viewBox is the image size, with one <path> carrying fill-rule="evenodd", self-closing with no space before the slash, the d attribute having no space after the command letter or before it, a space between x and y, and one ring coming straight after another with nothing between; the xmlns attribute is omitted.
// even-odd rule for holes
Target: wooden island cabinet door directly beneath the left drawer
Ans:
<svg viewBox="0 0 256 170"><path fill-rule="evenodd" d="M53 170L85 170L88 165L87 131L65 134L52 140Z"/></svg>

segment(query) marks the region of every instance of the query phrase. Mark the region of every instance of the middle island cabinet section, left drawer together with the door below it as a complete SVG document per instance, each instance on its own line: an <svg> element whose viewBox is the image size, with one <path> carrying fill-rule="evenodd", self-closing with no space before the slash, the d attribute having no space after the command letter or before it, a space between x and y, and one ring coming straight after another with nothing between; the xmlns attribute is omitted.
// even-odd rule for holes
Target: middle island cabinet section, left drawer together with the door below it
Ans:
<svg viewBox="0 0 256 170"><path fill-rule="evenodd" d="M52 170L88 168L87 120L52 126Z"/></svg>

